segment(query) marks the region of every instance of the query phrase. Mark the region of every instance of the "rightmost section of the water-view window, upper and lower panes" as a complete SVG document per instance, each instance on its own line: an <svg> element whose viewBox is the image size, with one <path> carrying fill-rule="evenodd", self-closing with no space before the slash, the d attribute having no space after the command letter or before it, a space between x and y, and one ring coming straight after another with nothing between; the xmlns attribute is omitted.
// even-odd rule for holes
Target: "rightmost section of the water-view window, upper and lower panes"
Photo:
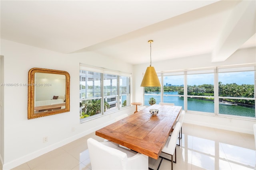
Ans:
<svg viewBox="0 0 256 170"><path fill-rule="evenodd" d="M255 71L253 67L220 69L218 74L219 114L255 117Z"/></svg>

